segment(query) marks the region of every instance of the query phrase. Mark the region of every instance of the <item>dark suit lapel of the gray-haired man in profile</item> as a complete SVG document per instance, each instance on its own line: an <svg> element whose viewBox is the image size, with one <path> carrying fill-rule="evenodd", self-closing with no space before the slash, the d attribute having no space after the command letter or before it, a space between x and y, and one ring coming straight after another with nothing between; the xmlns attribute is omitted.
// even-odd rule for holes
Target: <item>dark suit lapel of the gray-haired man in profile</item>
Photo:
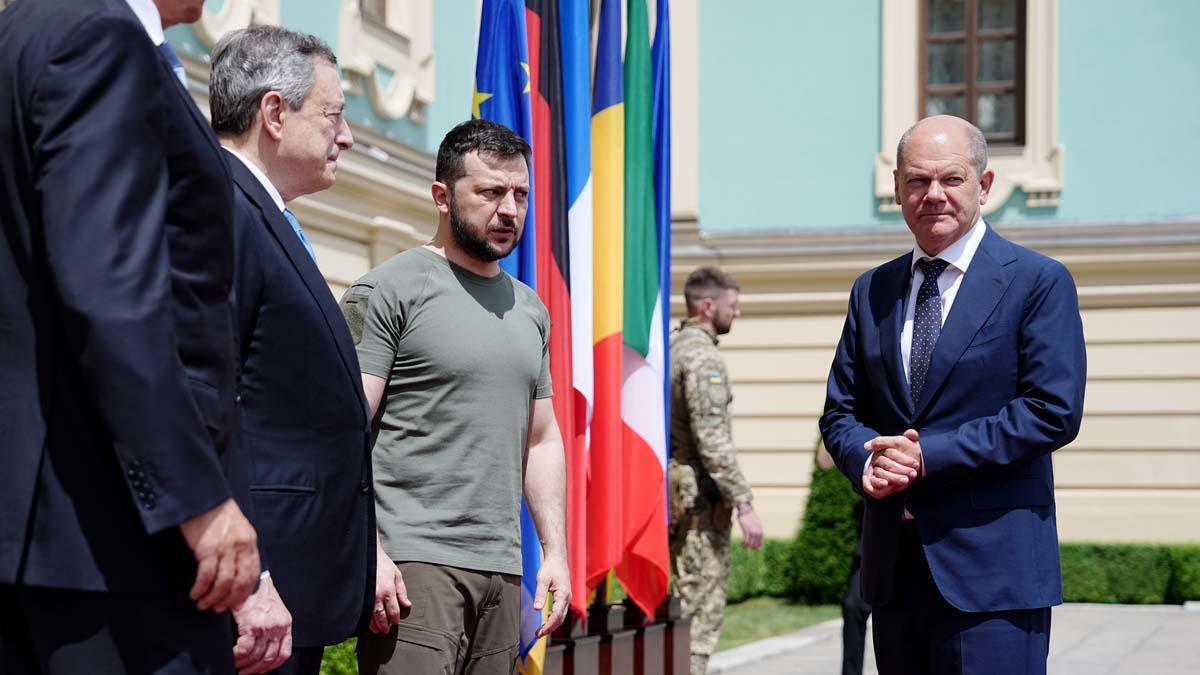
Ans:
<svg viewBox="0 0 1200 675"><path fill-rule="evenodd" d="M228 155L224 150L222 153ZM275 237L275 240L278 241L280 246L283 247L283 252L292 262L292 267L300 275L300 280L304 281L313 301L317 303L317 307L325 319L325 325L334 338L334 344L337 345L337 353L342 358L342 365L346 368L347 375L350 376L353 389L362 404L364 414L366 414L368 408L366 407L366 398L362 394L361 375L356 368L358 359L354 357L354 345L350 341L349 330L346 328L346 318L342 316L341 310L337 309L337 304L334 303L334 294L329 291L325 277L322 276L320 269L317 268L317 263L308 255L307 249L300 243L300 238L296 237L295 231L292 229L292 223L283 216L283 211L276 207L275 201L263 189L258 178L250 173L250 169L238 157L228 156L226 159L233 173L234 183L258 207L268 229Z"/></svg>

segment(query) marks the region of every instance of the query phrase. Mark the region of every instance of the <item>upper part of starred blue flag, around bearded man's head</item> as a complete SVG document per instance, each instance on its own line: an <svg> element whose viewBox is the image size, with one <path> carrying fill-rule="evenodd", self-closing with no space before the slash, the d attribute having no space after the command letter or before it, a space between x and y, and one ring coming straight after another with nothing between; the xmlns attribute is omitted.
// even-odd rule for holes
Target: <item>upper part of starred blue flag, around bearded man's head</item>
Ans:
<svg viewBox="0 0 1200 675"><path fill-rule="evenodd" d="M529 110L529 48L526 41L524 0L484 0L475 58L475 91L470 117L503 124L533 144ZM534 245L533 169L529 172L529 211L516 250L500 267L530 288L536 288Z"/></svg>

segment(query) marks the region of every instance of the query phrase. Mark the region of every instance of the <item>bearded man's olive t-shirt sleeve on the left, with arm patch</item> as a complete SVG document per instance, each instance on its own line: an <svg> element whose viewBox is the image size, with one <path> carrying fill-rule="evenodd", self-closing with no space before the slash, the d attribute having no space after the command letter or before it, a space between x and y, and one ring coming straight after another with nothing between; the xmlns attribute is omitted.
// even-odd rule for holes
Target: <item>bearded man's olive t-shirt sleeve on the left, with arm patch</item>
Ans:
<svg viewBox="0 0 1200 675"><path fill-rule="evenodd" d="M403 331L403 309L386 285L358 282L342 295L342 315L350 327L359 369L388 380Z"/></svg>

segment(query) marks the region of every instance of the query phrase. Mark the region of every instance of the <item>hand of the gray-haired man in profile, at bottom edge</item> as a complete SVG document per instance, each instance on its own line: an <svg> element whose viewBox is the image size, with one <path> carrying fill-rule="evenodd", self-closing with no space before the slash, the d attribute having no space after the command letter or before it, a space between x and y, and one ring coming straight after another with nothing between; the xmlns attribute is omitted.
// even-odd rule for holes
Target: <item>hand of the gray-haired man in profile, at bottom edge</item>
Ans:
<svg viewBox="0 0 1200 675"><path fill-rule="evenodd" d="M233 619L238 623L233 658L239 675L274 670L292 657L292 613L270 577L234 608Z"/></svg>

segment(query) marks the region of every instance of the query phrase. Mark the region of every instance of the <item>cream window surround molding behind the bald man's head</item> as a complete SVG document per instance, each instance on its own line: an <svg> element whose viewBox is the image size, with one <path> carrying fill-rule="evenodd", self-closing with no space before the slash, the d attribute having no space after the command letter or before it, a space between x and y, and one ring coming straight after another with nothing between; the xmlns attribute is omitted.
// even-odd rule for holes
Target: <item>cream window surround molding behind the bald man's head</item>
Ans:
<svg viewBox="0 0 1200 675"><path fill-rule="evenodd" d="M899 211L892 172L895 148L919 119L920 0L881 0L883 20L881 147L875 157L875 196L880 210ZM1063 148L1058 144L1058 0L1030 0L1025 17L1025 145L991 148L996 173L983 207L990 214L1020 187L1026 207L1056 207L1063 189Z"/></svg>

